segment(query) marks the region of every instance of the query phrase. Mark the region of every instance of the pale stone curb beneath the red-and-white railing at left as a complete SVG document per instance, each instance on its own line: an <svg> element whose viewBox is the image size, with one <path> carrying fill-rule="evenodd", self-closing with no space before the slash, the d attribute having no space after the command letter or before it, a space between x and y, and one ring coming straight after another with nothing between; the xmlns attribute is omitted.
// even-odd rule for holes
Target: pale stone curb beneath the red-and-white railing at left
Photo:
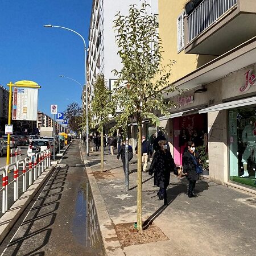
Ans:
<svg viewBox="0 0 256 256"><path fill-rule="evenodd" d="M68 147L65 150L65 152L67 152L71 144L72 143L68 144ZM59 159L57 163L59 163L61 159ZM34 181L34 183L27 189L27 191L24 192L19 197L19 199L11 206L11 208L7 210L7 212L3 214L3 216L0 218L0 243L5 239L6 235L13 228L15 222L18 220L18 218L22 215L27 206L34 199L39 189L42 188L44 182L47 180L49 175L51 175L53 170L55 170L57 163L47 168L43 172L43 174L41 174L38 177L38 179Z"/></svg>

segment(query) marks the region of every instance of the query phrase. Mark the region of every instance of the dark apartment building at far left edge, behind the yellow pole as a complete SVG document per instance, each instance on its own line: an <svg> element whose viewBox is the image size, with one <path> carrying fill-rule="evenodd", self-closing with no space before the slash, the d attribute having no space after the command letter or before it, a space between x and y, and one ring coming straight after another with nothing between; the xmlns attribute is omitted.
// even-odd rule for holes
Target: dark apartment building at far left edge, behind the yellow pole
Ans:
<svg viewBox="0 0 256 256"><path fill-rule="evenodd" d="M8 118L9 90L0 85L0 131L5 131Z"/></svg>

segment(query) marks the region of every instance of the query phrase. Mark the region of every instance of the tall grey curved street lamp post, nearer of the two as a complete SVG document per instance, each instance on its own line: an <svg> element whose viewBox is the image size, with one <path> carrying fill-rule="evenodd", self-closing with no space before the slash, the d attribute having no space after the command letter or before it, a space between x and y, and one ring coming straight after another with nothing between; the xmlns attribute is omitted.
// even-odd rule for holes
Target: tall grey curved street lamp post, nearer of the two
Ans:
<svg viewBox="0 0 256 256"><path fill-rule="evenodd" d="M77 33L75 30L71 30L70 28L67 27L60 27L60 26L53 26L53 25L44 25L44 27L57 27L57 28L63 28L64 30L68 30L71 31L73 33L75 33L76 35L80 36L80 38L82 39L82 42L84 42L84 67L85 67L85 97L86 97L86 153L87 156L89 156L89 120L88 120L88 86L87 86L87 82L86 82L86 43L84 38Z"/></svg>

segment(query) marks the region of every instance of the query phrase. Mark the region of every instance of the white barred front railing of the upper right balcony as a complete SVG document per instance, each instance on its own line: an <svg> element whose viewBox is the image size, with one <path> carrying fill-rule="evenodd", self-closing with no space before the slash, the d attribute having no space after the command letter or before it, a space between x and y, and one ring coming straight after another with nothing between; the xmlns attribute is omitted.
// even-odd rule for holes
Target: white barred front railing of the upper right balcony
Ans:
<svg viewBox="0 0 256 256"><path fill-rule="evenodd" d="M188 15L188 42L237 5L237 0L204 0Z"/></svg>

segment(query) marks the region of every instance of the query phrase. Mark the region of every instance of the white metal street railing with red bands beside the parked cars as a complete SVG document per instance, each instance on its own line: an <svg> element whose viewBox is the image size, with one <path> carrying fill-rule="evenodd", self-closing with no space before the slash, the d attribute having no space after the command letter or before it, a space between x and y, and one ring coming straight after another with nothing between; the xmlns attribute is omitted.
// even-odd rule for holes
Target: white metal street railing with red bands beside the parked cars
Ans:
<svg viewBox="0 0 256 256"><path fill-rule="evenodd" d="M2 213L5 213L11 207L11 205L8 205L10 193L13 194L14 201L19 199L20 179L22 179L22 192L25 192L27 190L27 177L28 186L30 186L50 166L51 152L47 149L11 163L8 166L1 167L0 172L2 172L3 176L2 189L0 189L0 192L2 192ZM19 172L22 174L19 175ZM10 178L13 178L13 180L9 183ZM10 185L13 191L9 191Z"/></svg>

